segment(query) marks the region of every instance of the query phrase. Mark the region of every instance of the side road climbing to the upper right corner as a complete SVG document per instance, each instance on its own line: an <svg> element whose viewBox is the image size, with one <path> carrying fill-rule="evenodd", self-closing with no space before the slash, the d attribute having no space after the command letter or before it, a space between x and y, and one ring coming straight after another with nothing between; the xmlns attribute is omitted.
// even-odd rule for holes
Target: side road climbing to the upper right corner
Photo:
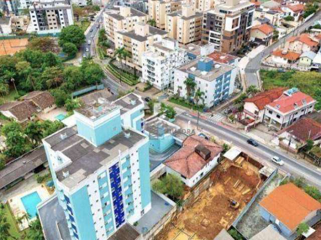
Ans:
<svg viewBox="0 0 321 240"><path fill-rule="evenodd" d="M268 47L266 47L261 54L258 54L254 58L251 58L245 67L247 86L250 86L250 85L255 85L257 87L259 86L256 71L260 69L261 62L264 57L268 56L273 51L273 49L275 49L275 48L279 47L281 44L283 44L283 42L285 42L285 40L288 37L293 36L299 32L302 32L303 30L305 30L306 28L311 26L315 20L320 19L320 17L321 17L321 11L316 12L315 15L313 15L308 21L306 21L302 25L298 26L294 30L294 32L292 31L292 32L288 33L287 35L283 36L282 38L280 38L278 41L276 41L272 45L269 45Z"/></svg>

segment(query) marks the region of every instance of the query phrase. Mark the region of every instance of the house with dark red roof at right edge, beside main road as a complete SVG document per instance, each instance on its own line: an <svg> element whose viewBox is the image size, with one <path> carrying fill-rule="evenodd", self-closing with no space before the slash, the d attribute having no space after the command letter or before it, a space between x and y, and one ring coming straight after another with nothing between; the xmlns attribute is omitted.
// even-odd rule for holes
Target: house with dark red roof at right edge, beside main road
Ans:
<svg viewBox="0 0 321 240"><path fill-rule="evenodd" d="M276 136L279 146L296 153L306 144L306 140L315 141L321 138L321 124L311 118L304 117L277 132Z"/></svg>

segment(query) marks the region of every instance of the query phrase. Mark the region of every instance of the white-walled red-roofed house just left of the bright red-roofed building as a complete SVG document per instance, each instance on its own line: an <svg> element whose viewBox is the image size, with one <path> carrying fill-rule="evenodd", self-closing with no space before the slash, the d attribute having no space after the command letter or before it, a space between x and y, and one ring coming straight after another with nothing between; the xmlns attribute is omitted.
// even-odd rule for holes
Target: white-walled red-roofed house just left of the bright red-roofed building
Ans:
<svg viewBox="0 0 321 240"><path fill-rule="evenodd" d="M280 97L285 89L285 87L276 87L268 91L260 92L255 96L246 98L244 100L243 107L245 117L263 120L265 105Z"/></svg>

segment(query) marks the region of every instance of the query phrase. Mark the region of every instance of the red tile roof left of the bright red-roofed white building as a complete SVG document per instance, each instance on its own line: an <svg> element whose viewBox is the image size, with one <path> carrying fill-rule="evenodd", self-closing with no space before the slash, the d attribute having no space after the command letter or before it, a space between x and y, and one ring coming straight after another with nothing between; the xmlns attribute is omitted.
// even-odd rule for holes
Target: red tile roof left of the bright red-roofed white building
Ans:
<svg viewBox="0 0 321 240"><path fill-rule="evenodd" d="M268 91L263 91L253 97L246 98L244 102L253 102L259 110L263 110L266 104L280 97L285 89L285 87L276 87Z"/></svg>

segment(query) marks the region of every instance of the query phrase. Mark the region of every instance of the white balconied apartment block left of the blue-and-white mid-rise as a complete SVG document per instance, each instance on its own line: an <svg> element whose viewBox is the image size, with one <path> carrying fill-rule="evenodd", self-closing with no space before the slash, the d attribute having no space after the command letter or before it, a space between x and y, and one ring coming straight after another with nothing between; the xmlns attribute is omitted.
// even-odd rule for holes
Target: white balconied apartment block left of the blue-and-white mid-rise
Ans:
<svg viewBox="0 0 321 240"><path fill-rule="evenodd" d="M174 87L174 70L188 61L187 52L177 40L164 38L154 42L141 56L142 82L149 81L157 89Z"/></svg>

